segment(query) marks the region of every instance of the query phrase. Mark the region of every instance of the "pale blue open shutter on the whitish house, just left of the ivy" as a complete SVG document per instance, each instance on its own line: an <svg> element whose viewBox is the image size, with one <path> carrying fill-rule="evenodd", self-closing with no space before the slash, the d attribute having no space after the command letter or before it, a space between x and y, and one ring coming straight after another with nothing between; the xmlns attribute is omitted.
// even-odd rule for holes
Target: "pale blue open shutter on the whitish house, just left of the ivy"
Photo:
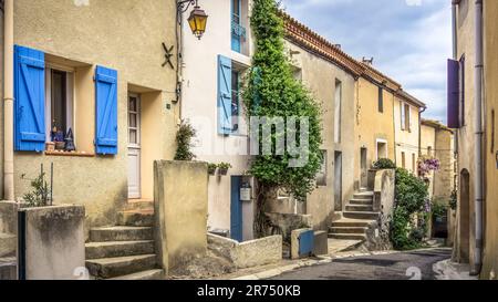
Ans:
<svg viewBox="0 0 498 302"><path fill-rule="evenodd" d="M231 60L218 56L218 133L231 134Z"/></svg>

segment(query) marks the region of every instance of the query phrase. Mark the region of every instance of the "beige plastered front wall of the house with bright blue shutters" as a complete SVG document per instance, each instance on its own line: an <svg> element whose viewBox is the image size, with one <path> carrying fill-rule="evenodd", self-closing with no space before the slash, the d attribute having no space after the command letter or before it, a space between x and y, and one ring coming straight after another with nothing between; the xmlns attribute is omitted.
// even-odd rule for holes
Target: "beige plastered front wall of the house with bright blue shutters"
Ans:
<svg viewBox="0 0 498 302"><path fill-rule="evenodd" d="M93 150L94 66L118 72L117 156L61 157L15 153L15 196L29 189L21 175L34 177L40 164L54 163L54 199L58 204L86 207L91 225L114 223L115 212L127 199L127 94L128 85L138 92L155 92L154 115L145 114L144 127L155 128L143 145L147 170L144 195L152 195L152 160L172 158L175 149L177 106L175 71L162 67L162 42L176 45L175 3L167 0L14 1L14 42L45 52L46 60L76 66L74 128L76 147ZM108 12L112 11L112 14ZM144 95L147 98L147 95ZM156 124L154 124L156 123ZM149 152L154 148L154 152ZM1 149L1 146L0 146ZM154 158L157 157L157 158ZM1 181L0 181L1 183Z"/></svg>

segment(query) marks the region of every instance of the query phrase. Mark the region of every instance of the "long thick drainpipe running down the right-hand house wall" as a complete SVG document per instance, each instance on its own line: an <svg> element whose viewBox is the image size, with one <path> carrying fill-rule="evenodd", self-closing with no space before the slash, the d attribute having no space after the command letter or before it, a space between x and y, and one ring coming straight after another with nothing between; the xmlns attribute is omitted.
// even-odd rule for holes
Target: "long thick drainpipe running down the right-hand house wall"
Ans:
<svg viewBox="0 0 498 302"><path fill-rule="evenodd" d="M484 204L484 175L483 175L483 0L476 0L476 23L475 23L475 43L476 43L476 66L475 66L475 207L476 207L476 252L474 268L471 273L477 275L483 267L483 204Z"/></svg>

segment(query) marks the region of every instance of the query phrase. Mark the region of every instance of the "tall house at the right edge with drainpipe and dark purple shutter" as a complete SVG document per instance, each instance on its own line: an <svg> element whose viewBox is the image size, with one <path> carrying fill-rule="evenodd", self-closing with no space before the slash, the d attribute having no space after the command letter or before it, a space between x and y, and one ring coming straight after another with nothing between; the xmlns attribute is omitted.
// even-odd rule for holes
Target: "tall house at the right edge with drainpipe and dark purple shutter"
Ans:
<svg viewBox="0 0 498 302"><path fill-rule="evenodd" d="M497 13L497 1L453 1L448 61L448 126L455 128L459 174L454 258L483 279L496 279L498 270Z"/></svg>

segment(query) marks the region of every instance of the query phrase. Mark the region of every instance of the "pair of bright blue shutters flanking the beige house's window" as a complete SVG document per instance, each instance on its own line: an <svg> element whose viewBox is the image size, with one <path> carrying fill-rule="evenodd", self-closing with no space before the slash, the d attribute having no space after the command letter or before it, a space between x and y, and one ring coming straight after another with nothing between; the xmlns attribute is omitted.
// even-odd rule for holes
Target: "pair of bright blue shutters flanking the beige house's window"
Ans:
<svg viewBox="0 0 498 302"><path fill-rule="evenodd" d="M117 72L96 67L96 153L117 154ZM14 46L14 149L45 149L45 54Z"/></svg>

